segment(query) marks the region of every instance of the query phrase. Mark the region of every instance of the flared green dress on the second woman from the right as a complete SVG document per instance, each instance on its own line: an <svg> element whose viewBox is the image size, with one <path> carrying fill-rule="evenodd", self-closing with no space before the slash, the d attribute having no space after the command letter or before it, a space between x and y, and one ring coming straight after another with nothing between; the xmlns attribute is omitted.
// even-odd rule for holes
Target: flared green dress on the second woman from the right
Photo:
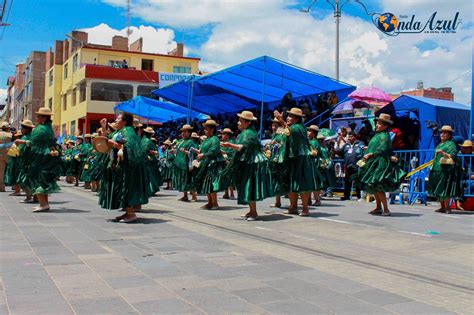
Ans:
<svg viewBox="0 0 474 315"><path fill-rule="evenodd" d="M370 140L364 154L373 153L365 165L359 168L357 183L368 193L391 192L400 187L405 172L398 163L390 160L392 142L388 131L377 132Z"/></svg>

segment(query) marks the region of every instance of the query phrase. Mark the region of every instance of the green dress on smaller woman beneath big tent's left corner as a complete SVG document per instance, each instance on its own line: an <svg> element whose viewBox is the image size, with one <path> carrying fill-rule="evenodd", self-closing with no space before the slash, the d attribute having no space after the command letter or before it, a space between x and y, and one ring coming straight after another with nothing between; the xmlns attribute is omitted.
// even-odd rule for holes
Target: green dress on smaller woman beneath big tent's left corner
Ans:
<svg viewBox="0 0 474 315"><path fill-rule="evenodd" d="M193 190L189 156L181 152L181 149L190 151L191 148L196 148L194 142L191 139L184 139L176 147L176 155L173 159L173 188L181 192Z"/></svg>

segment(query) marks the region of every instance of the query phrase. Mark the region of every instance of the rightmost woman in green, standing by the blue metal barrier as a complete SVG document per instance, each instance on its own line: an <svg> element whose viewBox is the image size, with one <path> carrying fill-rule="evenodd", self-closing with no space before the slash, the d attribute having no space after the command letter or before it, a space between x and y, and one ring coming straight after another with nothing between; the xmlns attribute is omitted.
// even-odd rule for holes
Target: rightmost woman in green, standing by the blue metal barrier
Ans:
<svg viewBox="0 0 474 315"><path fill-rule="evenodd" d="M456 144L451 126L441 127L441 143L435 148L435 158L430 170L428 193L438 198L440 208L436 212L451 213L449 200L462 196Z"/></svg>

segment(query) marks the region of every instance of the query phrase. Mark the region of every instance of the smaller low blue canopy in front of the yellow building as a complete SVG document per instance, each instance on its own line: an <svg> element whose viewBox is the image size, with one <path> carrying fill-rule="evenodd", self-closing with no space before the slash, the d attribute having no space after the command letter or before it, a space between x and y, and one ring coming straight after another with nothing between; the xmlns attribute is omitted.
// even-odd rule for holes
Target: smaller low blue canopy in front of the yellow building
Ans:
<svg viewBox="0 0 474 315"><path fill-rule="evenodd" d="M114 107L114 110L124 111L161 123L188 118L188 116L191 119L198 118L204 120L208 118L202 113L187 110L182 106L161 102L144 96L136 96L128 101L119 103Z"/></svg>

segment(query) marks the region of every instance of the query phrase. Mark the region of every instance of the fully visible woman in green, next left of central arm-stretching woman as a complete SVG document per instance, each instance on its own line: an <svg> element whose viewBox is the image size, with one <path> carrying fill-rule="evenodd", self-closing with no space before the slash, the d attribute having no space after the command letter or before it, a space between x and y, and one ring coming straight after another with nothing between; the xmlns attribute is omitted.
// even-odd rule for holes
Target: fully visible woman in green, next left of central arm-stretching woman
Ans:
<svg viewBox="0 0 474 315"><path fill-rule="evenodd" d="M203 209L217 210L217 192L220 191L219 177L224 168L224 157L220 148L219 138L216 136L217 123L209 119L202 124L206 139L200 150L193 149L199 160L199 169L195 178L195 187L198 193L207 194L207 204Z"/></svg>

